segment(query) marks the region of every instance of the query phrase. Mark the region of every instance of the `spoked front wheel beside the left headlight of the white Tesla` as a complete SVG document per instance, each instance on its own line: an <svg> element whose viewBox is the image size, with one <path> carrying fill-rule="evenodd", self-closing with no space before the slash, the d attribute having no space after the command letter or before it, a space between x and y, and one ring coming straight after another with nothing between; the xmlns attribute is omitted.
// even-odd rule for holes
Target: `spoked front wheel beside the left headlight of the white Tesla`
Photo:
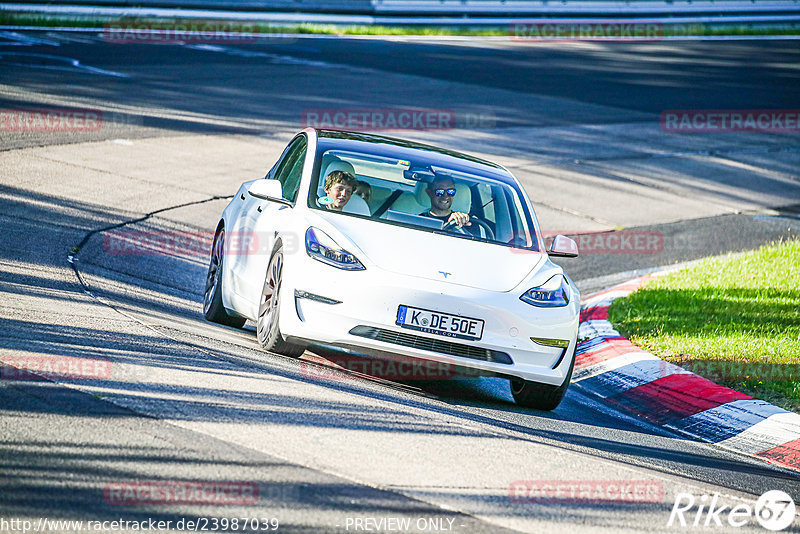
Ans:
<svg viewBox="0 0 800 534"><path fill-rule="evenodd" d="M258 342L271 352L298 358L305 352L305 347L287 342L280 329L280 290L283 279L283 246L278 243L269 260L261 299L258 304L258 321L256 332Z"/></svg>

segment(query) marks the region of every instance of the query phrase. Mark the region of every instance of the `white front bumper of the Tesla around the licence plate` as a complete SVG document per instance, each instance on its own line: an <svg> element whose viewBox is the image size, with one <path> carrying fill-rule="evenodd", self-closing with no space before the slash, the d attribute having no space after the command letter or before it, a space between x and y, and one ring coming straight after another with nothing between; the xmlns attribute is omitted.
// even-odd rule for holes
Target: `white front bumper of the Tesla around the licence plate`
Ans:
<svg viewBox="0 0 800 534"><path fill-rule="evenodd" d="M344 271L307 256L287 262L286 267L280 328L287 338L354 355L409 357L437 362L440 368L551 385L562 384L572 365L579 319L577 288L567 306L539 308L519 299L529 288L495 292L377 267ZM400 305L482 319L483 335L473 341L401 327L396 324ZM554 347L531 338L569 344Z"/></svg>

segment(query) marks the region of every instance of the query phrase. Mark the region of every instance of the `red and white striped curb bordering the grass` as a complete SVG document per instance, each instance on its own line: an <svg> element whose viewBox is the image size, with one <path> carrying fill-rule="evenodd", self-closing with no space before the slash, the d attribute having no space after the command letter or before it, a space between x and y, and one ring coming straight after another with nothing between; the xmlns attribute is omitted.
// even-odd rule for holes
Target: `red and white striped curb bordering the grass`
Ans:
<svg viewBox="0 0 800 534"><path fill-rule="evenodd" d="M800 415L720 386L650 354L608 321L614 299L643 276L595 293L581 306L572 381L623 412L678 434L800 471Z"/></svg>

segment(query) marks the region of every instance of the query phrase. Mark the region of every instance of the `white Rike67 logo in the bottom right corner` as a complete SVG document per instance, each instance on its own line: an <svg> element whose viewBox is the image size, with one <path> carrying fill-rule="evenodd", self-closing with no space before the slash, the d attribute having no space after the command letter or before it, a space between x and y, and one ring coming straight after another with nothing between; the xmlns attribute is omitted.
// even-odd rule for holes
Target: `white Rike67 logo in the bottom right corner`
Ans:
<svg viewBox="0 0 800 534"><path fill-rule="evenodd" d="M778 532L794 522L794 500L780 490L766 492L758 498L755 506L743 503L730 507L719 500L718 493L699 498L691 493L679 493L675 497L667 526L729 529L743 527L755 519L765 529Z"/></svg>

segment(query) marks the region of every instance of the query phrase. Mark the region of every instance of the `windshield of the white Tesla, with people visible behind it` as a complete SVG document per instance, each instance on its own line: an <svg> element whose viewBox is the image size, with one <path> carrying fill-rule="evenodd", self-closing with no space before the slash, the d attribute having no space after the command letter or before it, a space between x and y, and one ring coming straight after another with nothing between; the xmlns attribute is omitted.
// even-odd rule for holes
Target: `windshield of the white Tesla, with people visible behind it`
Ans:
<svg viewBox="0 0 800 534"><path fill-rule="evenodd" d="M333 184L343 174L352 175L357 182L355 191L339 211L342 215L537 250L527 203L522 193L507 183L424 161L328 150L322 155L319 174L312 181L309 207L341 207L341 200L337 202L332 191ZM468 214L471 224L463 228L447 224L452 212Z"/></svg>

